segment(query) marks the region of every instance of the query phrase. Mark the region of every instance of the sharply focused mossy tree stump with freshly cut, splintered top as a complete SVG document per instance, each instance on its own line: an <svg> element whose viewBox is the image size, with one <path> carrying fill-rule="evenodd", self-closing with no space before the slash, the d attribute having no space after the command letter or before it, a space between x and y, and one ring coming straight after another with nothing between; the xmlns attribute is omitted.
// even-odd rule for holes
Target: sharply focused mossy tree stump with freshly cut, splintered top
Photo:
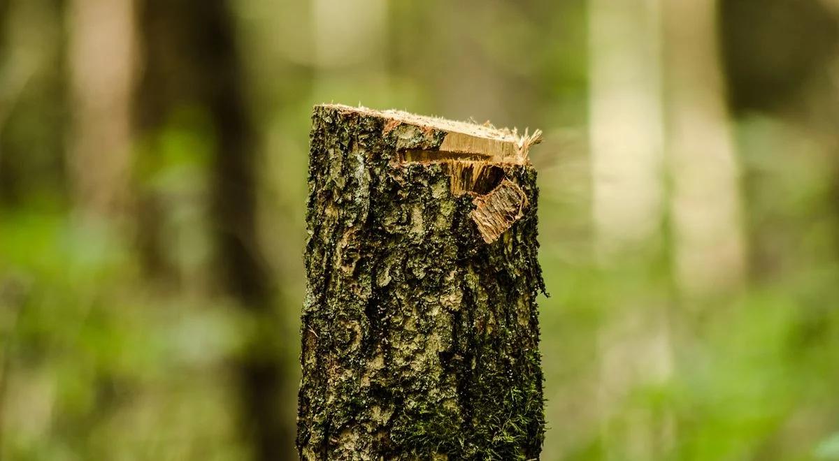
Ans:
<svg viewBox="0 0 839 461"><path fill-rule="evenodd" d="M539 457L538 140L315 107L301 458Z"/></svg>

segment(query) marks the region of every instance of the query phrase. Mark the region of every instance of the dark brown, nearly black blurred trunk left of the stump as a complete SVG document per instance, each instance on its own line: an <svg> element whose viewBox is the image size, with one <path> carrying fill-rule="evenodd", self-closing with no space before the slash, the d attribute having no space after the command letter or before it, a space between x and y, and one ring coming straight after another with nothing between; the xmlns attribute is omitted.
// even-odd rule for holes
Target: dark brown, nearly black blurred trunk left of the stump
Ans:
<svg viewBox="0 0 839 461"><path fill-rule="evenodd" d="M137 127L159 131L174 111L197 108L210 122L213 145L211 199L216 277L260 327L237 365L243 437L256 459L294 453L294 425L281 417L285 385L271 347L274 287L257 236L256 139L249 113L235 24L227 2L141 0L139 29L144 73L137 95ZM154 214L155 206L147 209ZM154 220L142 215L143 225ZM154 223L144 232L159 232ZM154 236L147 237L150 251ZM153 256L154 262L157 256Z"/></svg>

